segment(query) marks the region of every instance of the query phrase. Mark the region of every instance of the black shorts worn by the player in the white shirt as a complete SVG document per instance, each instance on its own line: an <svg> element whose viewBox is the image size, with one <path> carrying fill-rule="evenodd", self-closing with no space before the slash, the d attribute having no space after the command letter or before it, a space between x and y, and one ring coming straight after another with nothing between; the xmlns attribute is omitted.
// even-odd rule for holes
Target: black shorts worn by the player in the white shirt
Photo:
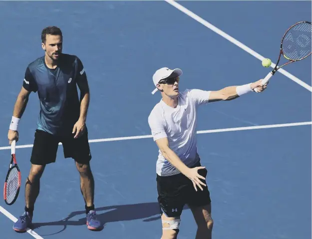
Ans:
<svg viewBox="0 0 312 239"><path fill-rule="evenodd" d="M193 167L198 166L201 166L200 163ZM206 178L207 169L200 169L198 173ZM200 180L207 185L206 180ZM202 185L203 191L197 187L196 192L192 181L181 173L172 176L157 174L156 181L160 213L169 218L180 217L185 204L200 207L211 203L208 187Z"/></svg>

